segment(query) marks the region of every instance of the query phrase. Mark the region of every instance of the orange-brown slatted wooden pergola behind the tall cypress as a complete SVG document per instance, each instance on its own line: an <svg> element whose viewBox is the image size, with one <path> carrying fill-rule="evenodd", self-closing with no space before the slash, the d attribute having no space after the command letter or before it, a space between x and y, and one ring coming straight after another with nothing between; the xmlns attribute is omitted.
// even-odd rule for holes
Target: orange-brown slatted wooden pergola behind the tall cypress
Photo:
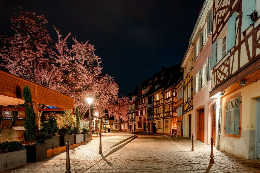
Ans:
<svg viewBox="0 0 260 173"><path fill-rule="evenodd" d="M30 88L35 113L38 111L74 110L74 98L45 88L21 77L0 70L0 105L23 104L22 95L24 86ZM57 107L57 109L38 109L38 104ZM39 120L36 121L37 126Z"/></svg>

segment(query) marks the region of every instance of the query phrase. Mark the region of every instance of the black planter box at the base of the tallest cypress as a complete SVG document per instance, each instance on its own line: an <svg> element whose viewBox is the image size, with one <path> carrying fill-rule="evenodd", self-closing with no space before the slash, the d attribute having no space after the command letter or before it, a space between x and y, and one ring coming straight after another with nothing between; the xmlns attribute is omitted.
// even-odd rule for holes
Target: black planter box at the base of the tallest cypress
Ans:
<svg viewBox="0 0 260 173"><path fill-rule="evenodd" d="M27 163L39 162L47 158L47 144L23 145L26 149Z"/></svg>

